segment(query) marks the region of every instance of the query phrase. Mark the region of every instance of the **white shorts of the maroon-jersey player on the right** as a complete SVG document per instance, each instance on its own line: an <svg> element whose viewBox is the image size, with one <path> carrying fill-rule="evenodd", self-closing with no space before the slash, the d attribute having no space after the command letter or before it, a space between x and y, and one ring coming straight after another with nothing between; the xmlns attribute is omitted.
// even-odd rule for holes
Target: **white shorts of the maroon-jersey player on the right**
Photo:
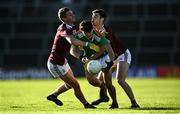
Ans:
<svg viewBox="0 0 180 114"><path fill-rule="evenodd" d="M115 60L115 63L118 63L118 62L127 62L131 64L131 53L129 49L127 49L125 53L117 57L117 59Z"/></svg>

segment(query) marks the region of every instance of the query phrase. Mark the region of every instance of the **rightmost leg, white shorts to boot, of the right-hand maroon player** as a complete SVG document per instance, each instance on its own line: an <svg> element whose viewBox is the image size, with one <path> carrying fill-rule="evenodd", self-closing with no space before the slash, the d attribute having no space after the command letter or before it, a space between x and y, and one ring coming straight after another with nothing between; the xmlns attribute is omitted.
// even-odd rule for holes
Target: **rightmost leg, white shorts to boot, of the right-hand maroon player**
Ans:
<svg viewBox="0 0 180 114"><path fill-rule="evenodd" d="M116 79L118 81L118 84L123 88L129 99L131 100L131 107L138 108L139 105L136 103L132 89L126 82L126 76L131 62L131 54L129 50L126 51L125 54L121 55L119 58L121 58L121 61L117 62Z"/></svg>

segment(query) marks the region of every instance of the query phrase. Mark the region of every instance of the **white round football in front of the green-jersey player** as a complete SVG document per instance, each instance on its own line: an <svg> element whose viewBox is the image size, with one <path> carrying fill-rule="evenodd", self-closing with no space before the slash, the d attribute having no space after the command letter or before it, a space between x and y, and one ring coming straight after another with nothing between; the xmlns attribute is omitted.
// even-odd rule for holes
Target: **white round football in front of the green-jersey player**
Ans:
<svg viewBox="0 0 180 114"><path fill-rule="evenodd" d="M101 64L97 60L91 60L87 64L87 71L91 74L99 73L101 68Z"/></svg>

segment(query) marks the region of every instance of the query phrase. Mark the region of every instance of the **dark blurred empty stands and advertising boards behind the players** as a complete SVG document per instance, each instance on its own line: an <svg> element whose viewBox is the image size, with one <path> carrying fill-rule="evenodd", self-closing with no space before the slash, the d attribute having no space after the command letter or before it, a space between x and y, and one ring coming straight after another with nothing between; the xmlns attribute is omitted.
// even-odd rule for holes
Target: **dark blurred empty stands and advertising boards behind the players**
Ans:
<svg viewBox="0 0 180 114"><path fill-rule="evenodd" d="M51 77L46 62L64 6L77 22L96 8L107 12L107 23L131 51L130 77L180 77L179 0L0 0L0 79ZM84 76L82 63L68 60Z"/></svg>

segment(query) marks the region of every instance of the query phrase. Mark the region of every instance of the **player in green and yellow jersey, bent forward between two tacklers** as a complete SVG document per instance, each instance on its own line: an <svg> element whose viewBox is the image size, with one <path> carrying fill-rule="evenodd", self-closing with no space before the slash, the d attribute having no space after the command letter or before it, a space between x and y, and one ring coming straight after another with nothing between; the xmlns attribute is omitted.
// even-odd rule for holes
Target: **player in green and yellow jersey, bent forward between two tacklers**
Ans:
<svg viewBox="0 0 180 114"><path fill-rule="evenodd" d="M118 108L118 103L116 100L116 90L115 87L112 84L112 76L109 72L109 69L111 68L114 60L114 52L111 48L110 42L105 38L105 36L101 35L97 31L93 30L93 26L91 21L82 21L79 25L80 31L77 32L75 37L81 41L88 41L92 45L90 46L83 46L80 47L80 49L83 50L83 53L80 54L77 52L77 48L73 46L71 48L71 54L79 59L84 59L84 68L85 68L85 74L87 77L88 82L95 86L100 87L101 91L100 96L104 97L104 102L108 102L109 98L107 97L107 94L104 94L105 87L107 87L108 92L112 98L112 105L110 106L111 109ZM88 73L86 69L86 63L88 63L89 60L98 60L102 66L102 72L104 73L104 82L97 79L96 74L90 74Z"/></svg>

